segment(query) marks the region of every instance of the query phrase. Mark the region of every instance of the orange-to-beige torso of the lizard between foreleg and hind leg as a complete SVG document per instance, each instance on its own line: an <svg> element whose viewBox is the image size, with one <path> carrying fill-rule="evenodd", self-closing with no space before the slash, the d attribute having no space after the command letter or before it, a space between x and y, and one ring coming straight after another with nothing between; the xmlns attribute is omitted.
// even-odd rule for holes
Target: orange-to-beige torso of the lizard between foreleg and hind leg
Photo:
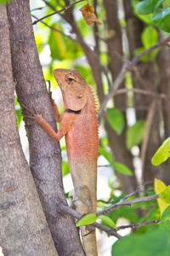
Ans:
<svg viewBox="0 0 170 256"><path fill-rule="evenodd" d="M85 122L88 123L88 122ZM89 123L88 123L89 124ZM77 122L65 136L67 157L74 188L87 186L96 212L98 133L93 125Z"/></svg>

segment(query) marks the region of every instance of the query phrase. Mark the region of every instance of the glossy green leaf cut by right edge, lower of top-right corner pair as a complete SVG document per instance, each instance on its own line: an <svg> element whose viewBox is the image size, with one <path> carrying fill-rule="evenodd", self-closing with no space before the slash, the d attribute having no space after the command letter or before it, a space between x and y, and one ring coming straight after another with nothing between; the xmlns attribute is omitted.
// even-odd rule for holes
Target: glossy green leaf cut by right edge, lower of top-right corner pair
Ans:
<svg viewBox="0 0 170 256"><path fill-rule="evenodd" d="M165 32L170 32L170 7L156 13L152 17L152 21Z"/></svg>

